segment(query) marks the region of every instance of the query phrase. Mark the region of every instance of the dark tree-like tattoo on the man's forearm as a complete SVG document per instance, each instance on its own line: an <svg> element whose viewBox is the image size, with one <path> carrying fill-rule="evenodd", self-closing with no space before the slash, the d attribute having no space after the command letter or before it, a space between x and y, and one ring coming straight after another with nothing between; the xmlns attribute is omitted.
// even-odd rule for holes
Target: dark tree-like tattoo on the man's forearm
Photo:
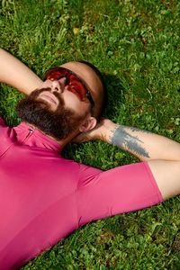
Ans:
<svg viewBox="0 0 180 270"><path fill-rule="evenodd" d="M112 130L112 137L110 137L112 144L118 148L121 148L122 150L129 150L140 157L149 157L148 151L142 147L143 141L140 140L138 136L131 135L127 129L132 132L140 131L144 133L151 133L147 130L139 130L137 128L121 125L115 130Z"/></svg>

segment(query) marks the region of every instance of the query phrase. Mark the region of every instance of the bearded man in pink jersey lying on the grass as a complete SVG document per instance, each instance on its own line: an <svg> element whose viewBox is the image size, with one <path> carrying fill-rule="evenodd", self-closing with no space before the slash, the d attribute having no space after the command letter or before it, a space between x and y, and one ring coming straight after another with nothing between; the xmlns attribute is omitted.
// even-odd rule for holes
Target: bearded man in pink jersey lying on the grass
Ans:
<svg viewBox="0 0 180 270"><path fill-rule="evenodd" d="M27 94L16 107L20 125L0 119L1 269L22 266L89 221L180 193L179 143L96 120L104 87L95 68L69 62L41 81L3 49L0 62L0 81ZM78 164L60 154L73 139L103 139L142 162L109 171Z"/></svg>

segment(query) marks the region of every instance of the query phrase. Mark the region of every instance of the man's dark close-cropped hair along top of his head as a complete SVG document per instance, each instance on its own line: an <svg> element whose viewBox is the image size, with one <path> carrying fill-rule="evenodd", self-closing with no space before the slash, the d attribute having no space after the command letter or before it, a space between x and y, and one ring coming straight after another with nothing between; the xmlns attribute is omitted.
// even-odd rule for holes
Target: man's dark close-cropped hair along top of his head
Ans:
<svg viewBox="0 0 180 270"><path fill-rule="evenodd" d="M103 100L102 100L102 107L101 107L101 111L99 112L98 116L97 116L97 120L100 119L101 115L103 114L104 112L104 109L105 109L105 106L107 104L107 99L108 99L108 96L107 96L107 89L106 89L106 85L104 83L104 80L103 80L103 75L102 73L99 71L99 69L97 67L95 67L93 64L89 63L89 62L86 62L84 60L81 60L81 61L78 61L79 63L82 63L82 64L85 64L87 65L88 67L91 67L95 74L99 77L102 85L103 85Z"/></svg>

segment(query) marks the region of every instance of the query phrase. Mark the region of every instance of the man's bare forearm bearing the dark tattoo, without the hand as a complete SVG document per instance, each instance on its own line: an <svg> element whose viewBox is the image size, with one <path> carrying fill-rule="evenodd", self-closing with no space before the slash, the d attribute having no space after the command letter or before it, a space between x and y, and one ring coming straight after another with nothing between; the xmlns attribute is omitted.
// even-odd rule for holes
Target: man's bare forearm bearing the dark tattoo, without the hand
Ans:
<svg viewBox="0 0 180 270"><path fill-rule="evenodd" d="M180 144L146 130L113 122L103 132L103 140L129 151L140 160L180 160Z"/></svg>

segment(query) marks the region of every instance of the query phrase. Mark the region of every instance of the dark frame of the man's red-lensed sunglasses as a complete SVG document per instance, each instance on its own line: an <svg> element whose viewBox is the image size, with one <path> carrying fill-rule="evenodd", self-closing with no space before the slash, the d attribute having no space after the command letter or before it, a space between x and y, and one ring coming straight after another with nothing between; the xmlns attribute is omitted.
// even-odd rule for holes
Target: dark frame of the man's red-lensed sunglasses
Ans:
<svg viewBox="0 0 180 270"><path fill-rule="evenodd" d="M67 79L68 79L68 74L70 73L70 74L76 76L76 77L80 80L81 84L85 87L85 90L87 91L87 93L86 93L86 98L87 98L87 99L89 100L89 102L91 103L91 116L94 116L94 100L93 100L93 97L92 97L92 95L91 95L91 93L90 93L90 90L89 90L89 89L87 88L87 86L85 85L85 82L82 80L82 78L80 78L80 76L76 75L76 73L74 73L73 71L67 69L66 67L52 67L52 68L49 68L49 69L45 72L45 74L44 74L42 80L45 81L45 80L48 79L48 78L44 78L44 77L46 76L46 74L47 74L50 70L58 71L59 69L60 69L60 70L66 70L66 71L67 71L67 74L65 75L65 77L66 77ZM59 80L59 79L62 78L62 77L64 77L64 76L59 76L59 77L57 78L57 80Z"/></svg>

